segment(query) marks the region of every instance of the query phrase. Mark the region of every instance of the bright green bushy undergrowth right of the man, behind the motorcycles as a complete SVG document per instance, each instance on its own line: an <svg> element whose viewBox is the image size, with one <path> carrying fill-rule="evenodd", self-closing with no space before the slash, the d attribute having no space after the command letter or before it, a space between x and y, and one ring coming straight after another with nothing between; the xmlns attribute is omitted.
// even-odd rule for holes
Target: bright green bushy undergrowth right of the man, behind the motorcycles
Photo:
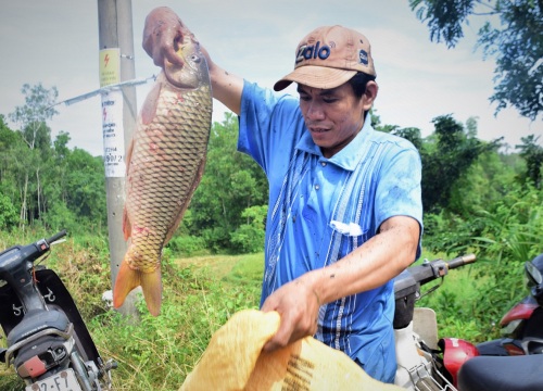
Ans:
<svg viewBox="0 0 543 391"><path fill-rule="evenodd" d="M450 256L472 252L478 260L469 267L469 280L453 285L450 275L447 288L429 299L430 306L444 312L438 313L438 320L455 319L455 329L450 329L450 324L440 324L440 329L475 342L498 338L496 324L528 293L522 280L523 263L543 252L543 191L517 186L489 205L488 211L479 210L468 220L446 213L425 216L427 219L431 229L425 229L425 247ZM449 307L455 310L447 311Z"/></svg>

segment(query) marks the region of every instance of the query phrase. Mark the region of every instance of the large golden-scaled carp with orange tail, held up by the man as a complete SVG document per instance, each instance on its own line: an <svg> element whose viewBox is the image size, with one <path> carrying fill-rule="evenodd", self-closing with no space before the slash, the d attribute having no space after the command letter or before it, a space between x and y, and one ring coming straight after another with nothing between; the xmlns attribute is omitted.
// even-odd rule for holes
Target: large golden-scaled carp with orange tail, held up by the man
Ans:
<svg viewBox="0 0 543 391"><path fill-rule="evenodd" d="M192 35L182 37L177 54L184 65L166 61L127 152L123 231L131 240L113 290L113 305L119 307L141 286L154 316L162 302L162 249L200 184L213 110L207 63Z"/></svg>

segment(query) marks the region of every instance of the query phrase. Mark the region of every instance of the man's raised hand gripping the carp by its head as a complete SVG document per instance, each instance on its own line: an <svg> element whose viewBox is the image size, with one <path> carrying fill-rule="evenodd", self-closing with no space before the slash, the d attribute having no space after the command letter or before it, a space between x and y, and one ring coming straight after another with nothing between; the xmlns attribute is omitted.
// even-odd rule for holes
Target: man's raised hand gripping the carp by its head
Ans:
<svg viewBox="0 0 543 391"><path fill-rule="evenodd" d="M184 63L176 51L185 35L192 34L175 12L167 7L160 7L146 17L142 46L156 66L164 68L166 60L182 66Z"/></svg>

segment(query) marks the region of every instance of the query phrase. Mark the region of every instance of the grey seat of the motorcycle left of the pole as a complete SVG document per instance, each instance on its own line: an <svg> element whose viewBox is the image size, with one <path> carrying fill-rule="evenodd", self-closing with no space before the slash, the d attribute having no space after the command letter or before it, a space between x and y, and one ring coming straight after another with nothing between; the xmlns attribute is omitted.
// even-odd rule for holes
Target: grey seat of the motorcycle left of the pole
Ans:
<svg viewBox="0 0 543 391"><path fill-rule="evenodd" d="M8 335L8 345L11 346L48 328L66 331L68 324L68 318L60 311L31 310L27 312L23 320L10 331Z"/></svg>

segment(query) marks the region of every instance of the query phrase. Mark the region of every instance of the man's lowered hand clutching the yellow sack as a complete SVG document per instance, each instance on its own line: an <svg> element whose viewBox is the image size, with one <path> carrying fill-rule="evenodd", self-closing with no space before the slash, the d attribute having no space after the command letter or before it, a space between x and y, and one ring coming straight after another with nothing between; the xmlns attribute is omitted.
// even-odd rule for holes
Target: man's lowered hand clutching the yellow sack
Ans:
<svg viewBox="0 0 543 391"><path fill-rule="evenodd" d="M317 331L320 300L307 279L298 278L272 293L262 311L277 311L281 323L276 335L264 345L265 352L285 348Z"/></svg>

